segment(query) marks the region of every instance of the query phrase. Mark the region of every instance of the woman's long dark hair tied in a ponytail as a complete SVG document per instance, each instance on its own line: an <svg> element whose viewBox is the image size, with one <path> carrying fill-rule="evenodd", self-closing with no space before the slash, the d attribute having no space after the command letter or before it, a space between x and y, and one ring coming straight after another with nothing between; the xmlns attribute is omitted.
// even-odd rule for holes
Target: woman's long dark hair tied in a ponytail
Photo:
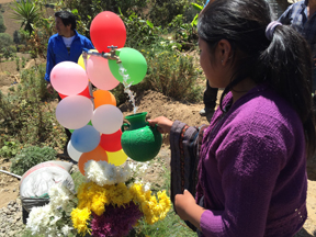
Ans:
<svg viewBox="0 0 316 237"><path fill-rule="evenodd" d="M278 25L269 41L266 29L272 20L273 13L264 0L214 0L200 14L198 33L213 53L221 40L227 40L233 48L237 66L222 94L221 109L225 94L245 78L269 83L301 117L309 158L316 143L311 49L304 37L287 25ZM242 58L236 58L237 50Z"/></svg>

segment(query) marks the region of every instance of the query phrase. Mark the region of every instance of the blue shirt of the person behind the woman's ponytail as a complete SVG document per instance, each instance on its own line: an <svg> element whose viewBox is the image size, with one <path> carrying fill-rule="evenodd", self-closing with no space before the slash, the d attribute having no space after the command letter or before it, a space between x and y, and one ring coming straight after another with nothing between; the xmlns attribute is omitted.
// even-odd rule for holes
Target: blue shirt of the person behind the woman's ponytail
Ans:
<svg viewBox="0 0 316 237"><path fill-rule="evenodd" d="M285 25L292 25L301 33L312 49L312 56L316 56L316 13L308 20L308 0L303 0L290 5L278 21Z"/></svg>

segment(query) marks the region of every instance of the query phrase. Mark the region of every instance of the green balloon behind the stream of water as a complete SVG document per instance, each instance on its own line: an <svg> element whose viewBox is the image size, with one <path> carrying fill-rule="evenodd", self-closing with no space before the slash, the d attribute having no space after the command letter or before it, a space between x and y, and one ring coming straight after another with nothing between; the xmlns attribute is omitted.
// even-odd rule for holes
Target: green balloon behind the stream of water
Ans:
<svg viewBox="0 0 316 237"><path fill-rule="evenodd" d="M122 66L126 71L124 75L128 75L127 83L137 84L146 76L147 72L147 63L145 57L140 52L134 48L121 48L116 52L116 55L122 60ZM109 60L109 67L113 76L120 81L123 82L123 76L120 72L120 65L115 60Z"/></svg>

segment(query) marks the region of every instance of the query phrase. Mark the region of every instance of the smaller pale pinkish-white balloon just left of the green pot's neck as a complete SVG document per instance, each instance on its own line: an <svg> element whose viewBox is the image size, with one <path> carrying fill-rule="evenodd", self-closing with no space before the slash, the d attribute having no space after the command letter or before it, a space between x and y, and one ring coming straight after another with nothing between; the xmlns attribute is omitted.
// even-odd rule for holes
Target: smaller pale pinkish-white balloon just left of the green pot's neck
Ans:
<svg viewBox="0 0 316 237"><path fill-rule="evenodd" d="M94 110L91 122L100 133L112 134L121 128L123 113L114 105L103 104Z"/></svg>

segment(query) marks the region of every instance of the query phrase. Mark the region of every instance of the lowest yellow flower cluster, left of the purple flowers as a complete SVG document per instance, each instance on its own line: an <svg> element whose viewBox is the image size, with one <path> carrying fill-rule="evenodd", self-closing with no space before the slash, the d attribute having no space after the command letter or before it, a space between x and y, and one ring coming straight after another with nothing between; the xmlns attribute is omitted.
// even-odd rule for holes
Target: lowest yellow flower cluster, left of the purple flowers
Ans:
<svg viewBox="0 0 316 237"><path fill-rule="evenodd" d="M88 233L90 233L89 227L87 226L87 221L90 219L91 212L88 208L79 210L74 208L71 212L71 221L74 224L74 227L78 230L79 234L84 236Z"/></svg>

